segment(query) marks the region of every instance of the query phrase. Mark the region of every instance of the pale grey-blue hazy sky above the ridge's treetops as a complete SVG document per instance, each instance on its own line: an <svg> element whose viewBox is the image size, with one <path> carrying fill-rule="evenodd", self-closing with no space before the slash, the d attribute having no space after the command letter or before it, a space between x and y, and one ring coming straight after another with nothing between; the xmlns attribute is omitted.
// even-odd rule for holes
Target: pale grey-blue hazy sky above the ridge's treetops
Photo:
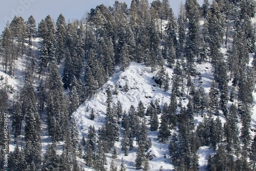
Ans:
<svg viewBox="0 0 256 171"><path fill-rule="evenodd" d="M125 2L130 7L131 1L120 0L119 2ZM22 16L25 21L33 15L36 23L39 23L49 14L56 22L57 17L62 13L68 22L68 19L81 19L85 12L97 5L113 6L114 2L115 0L1 0L0 31L2 32L6 27L7 20L11 22L15 15ZM148 2L152 3L153 0ZM169 2L177 15L179 4L184 3L185 0L169 0Z"/></svg>

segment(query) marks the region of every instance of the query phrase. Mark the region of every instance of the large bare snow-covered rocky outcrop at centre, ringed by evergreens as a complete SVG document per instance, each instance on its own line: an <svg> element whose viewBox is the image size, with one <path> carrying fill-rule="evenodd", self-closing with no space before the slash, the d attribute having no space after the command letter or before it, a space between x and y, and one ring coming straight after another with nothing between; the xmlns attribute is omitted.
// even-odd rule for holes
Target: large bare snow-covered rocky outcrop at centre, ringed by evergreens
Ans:
<svg viewBox="0 0 256 171"><path fill-rule="evenodd" d="M172 75L172 69L167 69L169 75ZM106 89L110 88L113 92L115 84L118 84L118 94L112 95L113 104L120 101L123 111L128 111L131 105L137 108L139 101L142 101L144 107L151 101L158 100L160 104L165 102L169 103L170 93L164 92L159 88L153 79L154 73L151 73L150 67L145 67L142 63L132 62L125 71L116 69L116 73L113 74L108 82L105 83L105 88L99 90L96 95L84 102L79 106L76 112L73 113L73 117L76 120L76 124L81 130L81 134L86 133L90 124L95 124L95 129L101 126L100 123L104 122L106 111ZM127 82L129 91L125 92L124 86ZM90 122L89 114L93 109L96 113L93 122Z"/></svg>

